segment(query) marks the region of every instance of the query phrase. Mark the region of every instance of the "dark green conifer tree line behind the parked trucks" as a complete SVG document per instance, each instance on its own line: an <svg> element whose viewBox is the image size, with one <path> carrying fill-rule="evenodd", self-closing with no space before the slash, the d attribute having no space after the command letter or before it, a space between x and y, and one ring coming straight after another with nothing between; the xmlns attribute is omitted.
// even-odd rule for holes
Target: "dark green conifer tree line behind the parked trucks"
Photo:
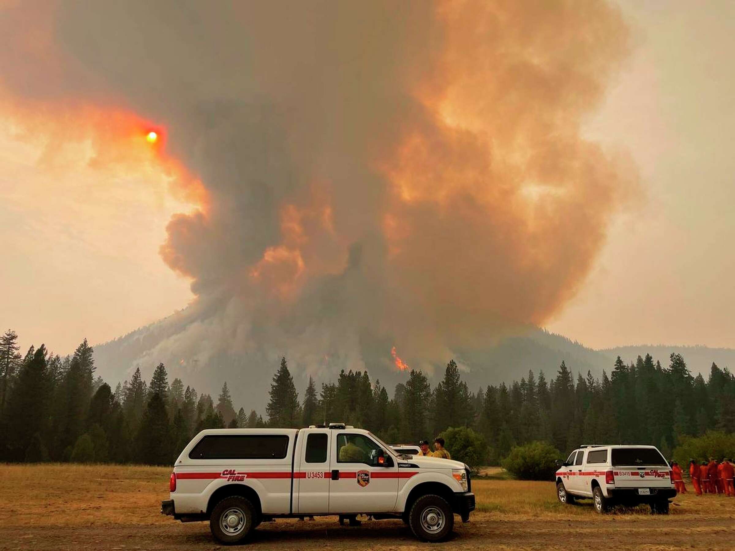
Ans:
<svg viewBox="0 0 735 551"><path fill-rule="evenodd" d="M208 394L168 382L159 364L146 383L140 368L114 390L94 375L85 340L60 358L46 347L21 356L17 335L0 337L0 460L112 461L171 464L204 428L304 427L344 421L368 428L386 442L415 443L447 428L467 428L482 439L487 464L499 464L514 446L549 442L568 451L579 444L655 444L670 456L686 437L735 426L735 378L712 364L707 380L692 376L684 358L662 367L650 355L610 375L574 378L562 361L556 376L528 372L509 385L470 392L455 361L434 388L410 370L392 397L367 371L344 370L317 386L309 378L302 399L287 360L270 385L265 419L235 410L227 383L217 402Z"/></svg>

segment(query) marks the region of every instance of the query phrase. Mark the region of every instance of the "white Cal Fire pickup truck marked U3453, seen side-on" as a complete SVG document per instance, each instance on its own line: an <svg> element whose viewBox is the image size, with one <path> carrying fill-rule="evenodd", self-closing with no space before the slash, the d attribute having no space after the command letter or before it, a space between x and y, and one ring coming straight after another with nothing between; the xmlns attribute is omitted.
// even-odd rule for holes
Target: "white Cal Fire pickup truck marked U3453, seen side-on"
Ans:
<svg viewBox="0 0 735 551"><path fill-rule="evenodd" d="M162 514L209 520L223 544L264 520L307 515L403 519L424 541L445 539L454 514L475 508L470 470L458 461L398 455L368 431L329 428L214 429L184 448Z"/></svg>

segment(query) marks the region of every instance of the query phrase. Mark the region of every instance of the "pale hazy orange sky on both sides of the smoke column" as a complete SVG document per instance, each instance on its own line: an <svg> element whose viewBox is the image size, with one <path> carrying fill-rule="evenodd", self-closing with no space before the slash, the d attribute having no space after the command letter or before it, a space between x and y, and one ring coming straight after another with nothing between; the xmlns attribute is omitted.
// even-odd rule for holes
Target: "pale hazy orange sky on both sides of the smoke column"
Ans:
<svg viewBox="0 0 735 551"><path fill-rule="evenodd" d="M617 215L576 298L547 324L592 347L735 347L735 4L621 0L634 51L587 135L625 149L645 201ZM192 205L156 162L92 163L76 143L0 127L0 328L68 353L181 309L189 281L159 256Z"/></svg>

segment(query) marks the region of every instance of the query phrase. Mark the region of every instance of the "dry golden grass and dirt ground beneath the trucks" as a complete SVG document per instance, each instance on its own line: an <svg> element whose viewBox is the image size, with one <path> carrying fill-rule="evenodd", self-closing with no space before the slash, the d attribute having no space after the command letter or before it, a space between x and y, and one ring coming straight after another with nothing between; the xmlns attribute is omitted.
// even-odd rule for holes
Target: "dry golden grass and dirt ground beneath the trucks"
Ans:
<svg viewBox="0 0 735 551"><path fill-rule="evenodd" d="M204 522L159 514L170 469L121 466L0 465L0 549L210 550ZM478 511L456 517L453 549L735 549L735 498L685 494L669 516L648 509L600 516L589 501L556 502L552 483L473 480ZM420 544L401 521L340 527L335 517L262 524L248 549L412 550Z"/></svg>

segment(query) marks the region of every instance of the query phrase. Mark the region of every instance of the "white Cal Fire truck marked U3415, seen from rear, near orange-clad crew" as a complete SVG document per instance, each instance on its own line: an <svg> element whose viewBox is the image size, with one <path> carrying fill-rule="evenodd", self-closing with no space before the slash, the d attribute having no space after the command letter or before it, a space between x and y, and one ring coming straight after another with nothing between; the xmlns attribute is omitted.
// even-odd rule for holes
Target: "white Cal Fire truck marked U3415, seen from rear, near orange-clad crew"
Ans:
<svg viewBox="0 0 735 551"><path fill-rule="evenodd" d="M610 505L648 503L653 514L668 514L676 495L673 473L655 446L581 446L557 467L559 501L591 497L598 513Z"/></svg>

